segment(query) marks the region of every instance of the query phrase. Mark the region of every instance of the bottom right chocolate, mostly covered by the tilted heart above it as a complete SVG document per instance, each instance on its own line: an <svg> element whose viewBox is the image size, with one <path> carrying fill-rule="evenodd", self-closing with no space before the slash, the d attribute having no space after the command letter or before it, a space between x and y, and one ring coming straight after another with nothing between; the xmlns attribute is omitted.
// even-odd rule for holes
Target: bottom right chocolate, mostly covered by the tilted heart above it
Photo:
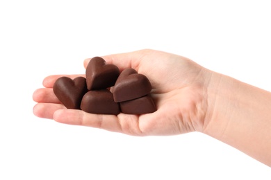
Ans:
<svg viewBox="0 0 271 180"><path fill-rule="evenodd" d="M120 111L124 114L147 114L156 111L156 105L151 96L120 102Z"/></svg>

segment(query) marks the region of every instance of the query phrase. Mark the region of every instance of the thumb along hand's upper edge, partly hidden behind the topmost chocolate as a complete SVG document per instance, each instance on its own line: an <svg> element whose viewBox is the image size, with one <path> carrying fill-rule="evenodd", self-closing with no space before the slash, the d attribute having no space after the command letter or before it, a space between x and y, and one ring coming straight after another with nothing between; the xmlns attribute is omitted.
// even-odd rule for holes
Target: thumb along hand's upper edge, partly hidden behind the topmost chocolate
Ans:
<svg viewBox="0 0 271 180"><path fill-rule="evenodd" d="M138 70L138 66L142 57L147 53L147 50L133 51L129 53L119 53L113 55L101 56L108 64L115 64L120 71L126 68L133 68ZM88 66L91 58L85 59L84 66Z"/></svg>

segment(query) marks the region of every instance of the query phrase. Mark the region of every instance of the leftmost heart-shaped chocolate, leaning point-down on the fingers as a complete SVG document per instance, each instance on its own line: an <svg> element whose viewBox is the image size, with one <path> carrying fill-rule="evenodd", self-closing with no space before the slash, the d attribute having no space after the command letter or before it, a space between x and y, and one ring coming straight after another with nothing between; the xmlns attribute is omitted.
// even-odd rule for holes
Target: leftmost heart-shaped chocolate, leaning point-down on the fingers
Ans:
<svg viewBox="0 0 271 180"><path fill-rule="evenodd" d="M54 83L53 91L67 109L80 109L81 100L88 89L83 77L74 80L60 77Z"/></svg>

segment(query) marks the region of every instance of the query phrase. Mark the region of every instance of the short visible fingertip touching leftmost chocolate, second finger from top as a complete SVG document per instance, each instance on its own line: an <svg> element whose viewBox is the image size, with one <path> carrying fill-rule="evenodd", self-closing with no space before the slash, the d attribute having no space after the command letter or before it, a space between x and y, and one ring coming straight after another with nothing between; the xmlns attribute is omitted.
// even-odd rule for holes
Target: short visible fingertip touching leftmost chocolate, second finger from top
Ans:
<svg viewBox="0 0 271 180"><path fill-rule="evenodd" d="M41 88L35 90L33 93L33 100L35 102L51 102L60 104L60 100L58 100L53 89L51 88Z"/></svg>

